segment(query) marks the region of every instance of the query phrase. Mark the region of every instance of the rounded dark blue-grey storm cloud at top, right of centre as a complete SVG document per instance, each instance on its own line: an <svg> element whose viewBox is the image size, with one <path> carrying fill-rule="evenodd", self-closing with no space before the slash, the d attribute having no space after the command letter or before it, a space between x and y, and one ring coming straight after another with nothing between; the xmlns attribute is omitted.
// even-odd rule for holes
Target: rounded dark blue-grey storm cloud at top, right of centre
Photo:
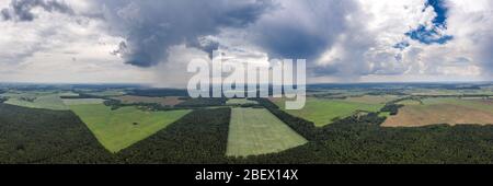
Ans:
<svg viewBox="0 0 493 186"><path fill-rule="evenodd" d="M358 5L352 0L287 2L278 13L261 20L253 32L256 44L274 57L313 59L347 31L346 15Z"/></svg>

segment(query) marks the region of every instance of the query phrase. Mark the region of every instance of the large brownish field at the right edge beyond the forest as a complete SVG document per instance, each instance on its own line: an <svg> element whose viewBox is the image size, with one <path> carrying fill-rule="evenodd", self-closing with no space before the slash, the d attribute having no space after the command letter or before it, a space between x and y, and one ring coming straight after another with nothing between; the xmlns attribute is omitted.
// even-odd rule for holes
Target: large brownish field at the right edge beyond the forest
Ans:
<svg viewBox="0 0 493 186"><path fill-rule="evenodd" d="M436 124L493 124L492 100L469 100L457 97L423 98L409 101L399 109L398 115L390 116L383 127L419 127ZM412 103L411 103L412 102Z"/></svg>

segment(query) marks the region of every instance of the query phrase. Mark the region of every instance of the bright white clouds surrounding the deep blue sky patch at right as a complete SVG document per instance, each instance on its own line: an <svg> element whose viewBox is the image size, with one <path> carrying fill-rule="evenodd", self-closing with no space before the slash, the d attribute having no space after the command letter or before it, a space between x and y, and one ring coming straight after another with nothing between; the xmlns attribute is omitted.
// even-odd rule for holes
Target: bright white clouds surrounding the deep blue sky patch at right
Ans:
<svg viewBox="0 0 493 186"><path fill-rule="evenodd" d="M402 77L424 75L434 80L485 80L492 67L492 7L489 1L446 1L446 44L423 44L404 33L420 25L432 25L437 16L425 1L359 1L363 9L358 27L340 35L319 59L321 66L339 69L359 80L392 81ZM348 20L351 22L351 20ZM395 44L405 42L400 49ZM392 78L393 77L393 78ZM377 78L378 79L378 78ZM405 81L423 81L410 78Z"/></svg>

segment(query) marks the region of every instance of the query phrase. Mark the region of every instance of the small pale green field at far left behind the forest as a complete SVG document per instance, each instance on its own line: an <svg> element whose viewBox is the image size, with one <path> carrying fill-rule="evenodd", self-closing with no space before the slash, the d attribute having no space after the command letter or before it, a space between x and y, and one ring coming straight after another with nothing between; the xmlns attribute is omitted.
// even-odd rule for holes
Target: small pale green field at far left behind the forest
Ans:
<svg viewBox="0 0 493 186"><path fill-rule="evenodd" d="M19 94L16 96L9 96L10 98L5 102L7 104L24 106L30 108L46 108L65 111L68 107L64 104L58 94L46 94L46 95L35 95L35 94Z"/></svg>

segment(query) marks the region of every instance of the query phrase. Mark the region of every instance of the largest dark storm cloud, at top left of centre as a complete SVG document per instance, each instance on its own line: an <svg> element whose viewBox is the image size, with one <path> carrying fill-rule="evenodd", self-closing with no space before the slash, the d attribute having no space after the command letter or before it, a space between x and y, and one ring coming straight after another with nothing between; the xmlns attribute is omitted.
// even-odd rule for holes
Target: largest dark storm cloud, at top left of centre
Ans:
<svg viewBox="0 0 493 186"><path fill-rule="evenodd" d="M209 53L218 43L204 43L199 40L202 37L226 27L245 27L273 7L268 0L104 2L105 19L113 34L126 39L114 54L139 67L165 60L167 49L173 45L186 44Z"/></svg>

